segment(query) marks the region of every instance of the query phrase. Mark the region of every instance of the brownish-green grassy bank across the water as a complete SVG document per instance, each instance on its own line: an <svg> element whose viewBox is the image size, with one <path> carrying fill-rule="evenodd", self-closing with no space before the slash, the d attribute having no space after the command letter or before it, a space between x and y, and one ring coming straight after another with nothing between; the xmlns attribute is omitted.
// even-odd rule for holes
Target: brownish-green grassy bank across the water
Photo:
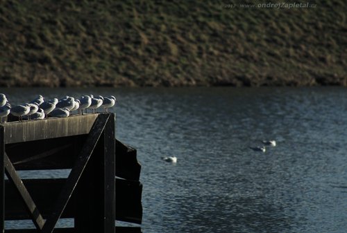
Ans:
<svg viewBox="0 0 347 233"><path fill-rule="evenodd" d="M344 1L241 4L0 1L0 86L347 85Z"/></svg>

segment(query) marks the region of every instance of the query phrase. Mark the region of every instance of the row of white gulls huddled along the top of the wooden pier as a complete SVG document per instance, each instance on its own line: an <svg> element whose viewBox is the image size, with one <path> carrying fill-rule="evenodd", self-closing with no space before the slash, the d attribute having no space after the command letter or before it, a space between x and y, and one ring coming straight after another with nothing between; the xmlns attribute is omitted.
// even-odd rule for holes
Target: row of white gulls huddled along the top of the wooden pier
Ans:
<svg viewBox="0 0 347 233"><path fill-rule="evenodd" d="M83 115L83 110L87 113L87 109L92 109L92 113L96 113L96 109L99 107L105 108L105 112L108 112L108 109L115 106L116 103L117 100L113 95L110 97L83 95L79 99L65 96L60 100L53 98L46 101L44 101L42 95L37 95L30 102L11 106L6 95L0 93L0 120L2 122L2 118L7 117L9 114L17 116L19 121L24 120L24 118L39 120L48 116L66 118L71 115L72 111L77 111L77 113Z"/></svg>

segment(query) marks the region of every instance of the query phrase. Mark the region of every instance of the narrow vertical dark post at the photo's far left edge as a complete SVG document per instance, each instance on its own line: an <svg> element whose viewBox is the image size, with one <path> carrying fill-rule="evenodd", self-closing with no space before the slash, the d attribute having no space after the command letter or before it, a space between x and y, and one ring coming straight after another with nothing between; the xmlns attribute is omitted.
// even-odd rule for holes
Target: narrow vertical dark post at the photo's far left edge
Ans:
<svg viewBox="0 0 347 233"><path fill-rule="evenodd" d="M5 230L5 165L3 156L5 154L5 144L3 143L3 127L0 126L0 232Z"/></svg>

